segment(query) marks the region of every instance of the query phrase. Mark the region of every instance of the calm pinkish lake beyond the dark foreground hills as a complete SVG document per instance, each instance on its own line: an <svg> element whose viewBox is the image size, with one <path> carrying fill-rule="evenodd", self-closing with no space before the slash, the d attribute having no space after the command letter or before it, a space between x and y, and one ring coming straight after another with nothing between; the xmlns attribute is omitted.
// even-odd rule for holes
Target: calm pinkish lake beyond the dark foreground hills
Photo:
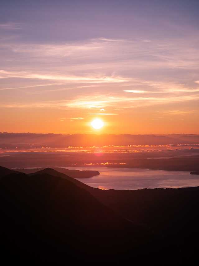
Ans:
<svg viewBox="0 0 199 266"><path fill-rule="evenodd" d="M108 167L65 167L96 170L100 175L79 181L100 189L178 188L199 186L199 176L190 172Z"/></svg>

